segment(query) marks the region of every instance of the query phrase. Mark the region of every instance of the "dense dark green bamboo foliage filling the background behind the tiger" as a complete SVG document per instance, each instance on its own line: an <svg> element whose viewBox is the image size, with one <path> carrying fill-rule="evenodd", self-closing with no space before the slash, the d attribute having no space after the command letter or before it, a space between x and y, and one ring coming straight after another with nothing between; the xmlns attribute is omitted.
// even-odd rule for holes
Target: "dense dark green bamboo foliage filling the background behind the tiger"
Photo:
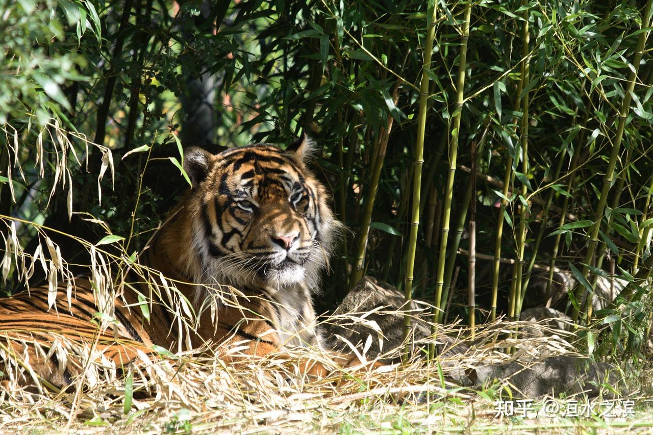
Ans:
<svg viewBox="0 0 653 435"><path fill-rule="evenodd" d="M320 309L333 308L353 285L373 187L364 270L403 288L411 260L406 252L419 86L433 7L433 1L419 0L0 0L3 238L10 240L15 231L18 244L32 254L43 241L37 229L54 229L48 234L80 272L89 260L79 239L113 241L116 252L129 257L188 187L178 169L182 147L283 147L308 133L319 144L315 170L330 185L334 210L351 230L332 261ZM467 256L451 246L462 234L458 247L469 247L461 214L469 206L465 193L475 146L479 177L470 193L477 253L495 254L505 216L500 258L519 260L522 248L524 291L530 259L547 267L555 255L556 266L579 281L569 310L581 312L579 321L592 327L590 349L611 349L641 362L650 330L653 225L650 44L639 63L633 59L638 40L648 33L646 2L437 1L435 7L413 297L432 302L440 287L447 319L468 317ZM464 101L457 105L467 7ZM530 42L524 46L527 22ZM524 97L530 99L526 108ZM459 129L453 128L456 116ZM447 209L453 137L458 155ZM373 168L385 144L376 186ZM513 170L507 174L507 168ZM504 179L513 195L504 195ZM608 196L601 210L603 185ZM502 198L508 199L505 213ZM449 253L442 264L450 272L438 285L447 214ZM595 225L595 254L587 258ZM508 302L517 277L504 263L496 274L493 261L477 257L477 323L491 316L494 276L498 311L518 315ZM1 293L23 289L11 256L2 264L7 280ZM610 277L611 270L628 282L626 291L611 308L587 315L583 295L591 294L595 276ZM549 276L543 276L546 282Z"/></svg>

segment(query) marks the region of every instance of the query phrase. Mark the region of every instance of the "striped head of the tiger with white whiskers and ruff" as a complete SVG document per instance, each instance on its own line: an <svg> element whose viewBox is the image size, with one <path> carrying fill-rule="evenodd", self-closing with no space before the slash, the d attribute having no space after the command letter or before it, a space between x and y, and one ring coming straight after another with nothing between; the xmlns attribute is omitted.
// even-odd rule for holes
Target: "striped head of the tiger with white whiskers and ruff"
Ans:
<svg viewBox="0 0 653 435"><path fill-rule="evenodd" d="M287 150L256 144L215 155L185 152L195 257L185 268L195 282L317 288L341 224L325 187L306 169L311 147L300 138Z"/></svg>

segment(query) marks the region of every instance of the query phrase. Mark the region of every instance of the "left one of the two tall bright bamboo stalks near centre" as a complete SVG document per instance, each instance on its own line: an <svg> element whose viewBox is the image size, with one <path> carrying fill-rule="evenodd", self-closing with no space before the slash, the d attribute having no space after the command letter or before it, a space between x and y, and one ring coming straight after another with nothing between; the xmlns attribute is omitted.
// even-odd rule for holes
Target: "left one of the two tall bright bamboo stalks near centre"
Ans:
<svg viewBox="0 0 653 435"><path fill-rule="evenodd" d="M424 64L422 65L422 82L419 93L419 112L417 114L417 142L415 143L413 162L413 210L411 210L411 227L408 236L406 278L404 279L404 300L406 310L410 310L410 301L413 298L413 272L415 268L415 250L417 249L417 229L419 229L419 196L422 190L422 165L424 165L424 133L426 131L426 101L428 97L428 73L431 67L431 56L433 52L433 40L436 37L436 14L438 7L434 3L430 20L427 20L428 34L426 35L426 46L424 47ZM404 340L410 332L410 314L404 313ZM406 342L403 359L407 361L410 346Z"/></svg>

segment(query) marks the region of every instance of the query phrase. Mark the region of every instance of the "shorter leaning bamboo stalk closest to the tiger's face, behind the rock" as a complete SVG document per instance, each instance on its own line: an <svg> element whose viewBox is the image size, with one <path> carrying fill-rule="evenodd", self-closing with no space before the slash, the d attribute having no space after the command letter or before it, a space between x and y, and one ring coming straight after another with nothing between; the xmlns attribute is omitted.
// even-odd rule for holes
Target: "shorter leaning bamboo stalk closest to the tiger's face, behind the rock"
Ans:
<svg viewBox="0 0 653 435"><path fill-rule="evenodd" d="M399 88L401 82L398 81L392 91L392 99L396 104L399 99ZM376 191L379 187L379 178L381 178L381 169L383 168L383 160L385 159L385 150L388 146L390 131L392 131L392 121L394 118L388 115L387 126L381 129L377 135L376 142L376 158L374 159L374 168L372 169L372 178L370 179L370 191L365 202L365 209L363 210L362 222L360 225L360 234L358 236L358 249L356 256L356 263L351 271L351 280L349 280L349 288L353 288L363 276L365 250L368 242L368 235L370 233L370 222L372 221L372 212L374 211L374 200L376 198Z"/></svg>

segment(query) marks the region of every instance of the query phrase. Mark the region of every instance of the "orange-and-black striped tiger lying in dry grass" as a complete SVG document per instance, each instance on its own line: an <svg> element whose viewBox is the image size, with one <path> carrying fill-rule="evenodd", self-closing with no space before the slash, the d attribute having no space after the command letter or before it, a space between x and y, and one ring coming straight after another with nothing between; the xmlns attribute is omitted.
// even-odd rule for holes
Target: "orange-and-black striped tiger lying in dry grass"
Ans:
<svg viewBox="0 0 653 435"><path fill-rule="evenodd" d="M31 367L59 387L72 385L83 364L57 356L50 334L55 327L73 342L92 342L120 367L153 346L173 350L212 343L216 357L227 363L296 347L324 349L313 296L343 225L330 210L327 189L307 167L314 147L303 136L285 150L271 144L217 154L185 150L183 169L191 187L138 259L155 271L151 277L160 272L175 282L195 310L195 328L185 339L174 327L175 302L163 293L152 297L146 283L124 287L114 300L116 325L99 329L89 320L100 311L92 282L82 278L70 304L59 288L54 310L48 310L48 287L0 300L0 342L16 355L25 355L25 343L32 344L26 354ZM216 289L224 288L231 291L218 295ZM216 296L217 308L207 303ZM148 310L138 309L144 303ZM352 355L331 355L341 367L357 363ZM312 376L329 372L315 361L302 367Z"/></svg>

